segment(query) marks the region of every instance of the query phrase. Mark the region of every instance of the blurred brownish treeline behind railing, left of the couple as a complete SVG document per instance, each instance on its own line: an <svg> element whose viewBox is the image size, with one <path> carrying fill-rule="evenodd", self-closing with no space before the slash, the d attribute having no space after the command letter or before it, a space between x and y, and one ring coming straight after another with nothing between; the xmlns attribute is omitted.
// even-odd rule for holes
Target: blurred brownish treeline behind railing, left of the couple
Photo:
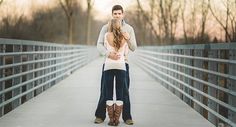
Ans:
<svg viewBox="0 0 236 127"><path fill-rule="evenodd" d="M73 44L86 44L86 11L81 6L71 7L72 15L72 42ZM90 44L95 44L101 21L90 19ZM68 43L68 20L61 6L42 9L33 13L29 20L27 17L7 15L0 23L0 37L24 40L37 40L54 43Z"/></svg>

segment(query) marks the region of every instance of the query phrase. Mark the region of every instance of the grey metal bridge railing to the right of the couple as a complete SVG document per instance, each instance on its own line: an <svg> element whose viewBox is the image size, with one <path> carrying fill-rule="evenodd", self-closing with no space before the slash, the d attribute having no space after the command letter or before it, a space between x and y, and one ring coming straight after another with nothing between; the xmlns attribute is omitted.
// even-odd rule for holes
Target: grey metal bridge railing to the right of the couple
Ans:
<svg viewBox="0 0 236 127"><path fill-rule="evenodd" d="M216 126L236 127L236 43L140 47L141 68Z"/></svg>

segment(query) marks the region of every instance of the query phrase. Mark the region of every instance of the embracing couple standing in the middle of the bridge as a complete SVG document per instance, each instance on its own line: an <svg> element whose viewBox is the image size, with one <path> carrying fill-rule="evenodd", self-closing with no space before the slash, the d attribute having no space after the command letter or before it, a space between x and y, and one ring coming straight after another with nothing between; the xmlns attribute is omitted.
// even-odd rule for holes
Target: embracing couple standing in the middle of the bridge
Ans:
<svg viewBox="0 0 236 127"><path fill-rule="evenodd" d="M95 123L102 123L108 112L110 126L117 126L122 119L133 125L129 99L129 64L128 52L137 47L133 28L123 20L122 6L112 7L112 19L104 25L97 41L99 52L105 55L102 68L101 93L95 112ZM114 79L115 78L115 79ZM114 85L115 80L115 85ZM113 100L115 86L116 100Z"/></svg>

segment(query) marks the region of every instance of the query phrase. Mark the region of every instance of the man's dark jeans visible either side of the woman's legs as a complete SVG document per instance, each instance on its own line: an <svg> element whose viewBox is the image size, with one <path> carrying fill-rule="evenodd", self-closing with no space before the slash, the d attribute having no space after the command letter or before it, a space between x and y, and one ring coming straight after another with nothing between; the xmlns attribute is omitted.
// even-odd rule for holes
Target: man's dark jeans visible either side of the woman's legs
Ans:
<svg viewBox="0 0 236 127"><path fill-rule="evenodd" d="M129 65L126 63L126 85L124 88L124 96L123 96L123 112L122 112L122 118L124 121L127 119L132 119L131 113L130 113L130 99L129 99L129 85L130 85L130 78L129 78ZM95 112L95 116L99 117L103 120L106 118L106 97L105 92L106 88L104 85L104 65L102 68L102 78L101 78L101 89L100 89L100 98L98 102L98 106Z"/></svg>

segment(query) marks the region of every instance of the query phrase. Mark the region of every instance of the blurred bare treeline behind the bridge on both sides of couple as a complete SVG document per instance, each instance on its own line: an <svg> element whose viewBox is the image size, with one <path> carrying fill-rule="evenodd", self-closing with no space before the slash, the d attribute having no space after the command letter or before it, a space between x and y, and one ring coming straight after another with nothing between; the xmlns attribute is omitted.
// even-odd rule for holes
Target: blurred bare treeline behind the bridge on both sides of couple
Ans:
<svg viewBox="0 0 236 127"><path fill-rule="evenodd" d="M31 20L3 17L0 37L94 45L107 22L94 20L94 0L87 0L86 10L77 0L59 1L54 8L33 13ZM236 42L235 0L133 1L136 5L126 9L125 20L134 27L138 45Z"/></svg>

